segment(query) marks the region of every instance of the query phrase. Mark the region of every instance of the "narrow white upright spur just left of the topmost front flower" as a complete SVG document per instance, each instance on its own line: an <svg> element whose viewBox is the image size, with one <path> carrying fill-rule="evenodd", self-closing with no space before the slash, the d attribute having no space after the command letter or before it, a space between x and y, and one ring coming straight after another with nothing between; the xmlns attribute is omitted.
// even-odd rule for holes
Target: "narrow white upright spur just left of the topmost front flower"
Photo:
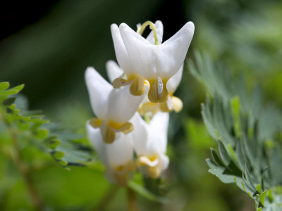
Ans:
<svg viewBox="0 0 282 211"><path fill-rule="evenodd" d="M126 74L132 75L133 73L135 73L135 71L133 65L129 60L128 52L123 44L123 39L121 39L121 32L116 24L111 25L111 37L113 37L114 49L116 52L116 59L118 60L118 64Z"/></svg>

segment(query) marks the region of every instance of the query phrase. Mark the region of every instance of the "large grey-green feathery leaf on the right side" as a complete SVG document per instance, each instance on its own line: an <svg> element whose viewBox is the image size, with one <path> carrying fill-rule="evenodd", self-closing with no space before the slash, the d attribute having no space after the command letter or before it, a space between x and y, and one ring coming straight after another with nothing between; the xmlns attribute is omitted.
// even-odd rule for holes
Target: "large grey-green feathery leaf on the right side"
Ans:
<svg viewBox="0 0 282 211"><path fill-rule="evenodd" d="M259 89L247 94L242 78L231 83L228 70L206 54L195 53L189 68L209 93L202 117L218 143L209 172L248 193L257 210L281 210L281 111L263 103Z"/></svg>

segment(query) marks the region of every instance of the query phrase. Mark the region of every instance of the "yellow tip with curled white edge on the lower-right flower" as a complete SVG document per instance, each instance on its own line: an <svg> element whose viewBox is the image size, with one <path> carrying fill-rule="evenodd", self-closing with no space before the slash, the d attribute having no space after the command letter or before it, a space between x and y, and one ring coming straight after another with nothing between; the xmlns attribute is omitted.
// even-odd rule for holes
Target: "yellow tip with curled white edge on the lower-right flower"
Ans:
<svg viewBox="0 0 282 211"><path fill-rule="evenodd" d="M157 179L161 175L159 158L157 155L140 155L137 158L137 166L145 169L145 173L152 179Z"/></svg>

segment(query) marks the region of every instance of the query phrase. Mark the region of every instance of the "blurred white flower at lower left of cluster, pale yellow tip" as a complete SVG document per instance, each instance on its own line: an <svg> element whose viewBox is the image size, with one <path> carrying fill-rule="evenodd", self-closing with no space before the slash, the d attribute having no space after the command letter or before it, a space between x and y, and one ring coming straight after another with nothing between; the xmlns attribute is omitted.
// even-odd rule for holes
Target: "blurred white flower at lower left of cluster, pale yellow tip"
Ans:
<svg viewBox="0 0 282 211"><path fill-rule="evenodd" d="M130 134L119 133L116 141L104 143L98 128L87 122L87 136L100 160L106 167L106 178L113 184L125 186L135 170L133 161L133 144Z"/></svg>

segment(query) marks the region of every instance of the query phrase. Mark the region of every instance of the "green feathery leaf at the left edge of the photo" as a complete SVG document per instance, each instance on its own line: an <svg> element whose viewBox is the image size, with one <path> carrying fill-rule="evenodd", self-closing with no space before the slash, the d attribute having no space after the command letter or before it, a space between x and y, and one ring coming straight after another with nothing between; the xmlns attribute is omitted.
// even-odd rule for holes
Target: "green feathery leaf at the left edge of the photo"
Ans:
<svg viewBox="0 0 282 211"><path fill-rule="evenodd" d="M19 110L16 107L14 103L18 97L16 94L23 87L20 85L9 88L8 82L0 83L0 139L4 140L0 143L1 152L15 159L11 151L16 151L20 155L20 151L25 148L37 146L39 151L50 153L63 167L83 165L90 160L92 151L83 144L83 136L65 132L42 115L30 112L27 108Z"/></svg>

